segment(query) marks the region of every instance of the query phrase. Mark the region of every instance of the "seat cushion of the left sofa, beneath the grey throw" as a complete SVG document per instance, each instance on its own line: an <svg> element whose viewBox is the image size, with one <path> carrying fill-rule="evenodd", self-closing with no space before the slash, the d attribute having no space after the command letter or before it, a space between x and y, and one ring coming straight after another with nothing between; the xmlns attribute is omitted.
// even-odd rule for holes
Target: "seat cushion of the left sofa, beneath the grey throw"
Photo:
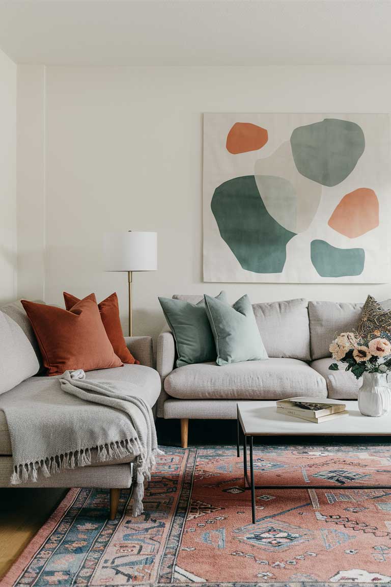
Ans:
<svg viewBox="0 0 391 587"><path fill-rule="evenodd" d="M9 437L8 427L4 411L2 411L2 402L12 396L21 396L28 393L29 390L45 389L47 386L57 386L58 376L55 377L30 377L16 387L5 392L0 396L0 455L12 454L11 439ZM115 369L102 369L89 371L86 373L86 379L99 381L125 381L130 383L129 394L142 397L149 404L154 406L161 390L161 382L158 372L151 367L144 365L124 365ZM101 410L103 406L91 403L91 410ZM124 414L124 417L125 414ZM130 459L132 460L132 459ZM111 461L117 462L117 461ZM124 462L120 460L118 462Z"/></svg>

